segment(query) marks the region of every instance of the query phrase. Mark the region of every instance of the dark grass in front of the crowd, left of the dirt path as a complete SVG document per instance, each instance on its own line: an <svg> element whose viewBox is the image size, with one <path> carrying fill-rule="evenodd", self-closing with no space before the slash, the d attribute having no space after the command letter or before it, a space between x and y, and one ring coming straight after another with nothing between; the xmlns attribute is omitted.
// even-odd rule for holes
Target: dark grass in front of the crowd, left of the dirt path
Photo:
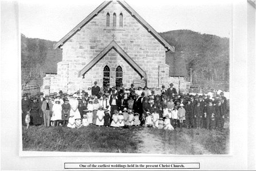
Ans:
<svg viewBox="0 0 256 171"><path fill-rule="evenodd" d="M141 140L133 137L133 130L107 127L68 127L44 126L22 130L23 150L58 152L105 152L134 153Z"/></svg>

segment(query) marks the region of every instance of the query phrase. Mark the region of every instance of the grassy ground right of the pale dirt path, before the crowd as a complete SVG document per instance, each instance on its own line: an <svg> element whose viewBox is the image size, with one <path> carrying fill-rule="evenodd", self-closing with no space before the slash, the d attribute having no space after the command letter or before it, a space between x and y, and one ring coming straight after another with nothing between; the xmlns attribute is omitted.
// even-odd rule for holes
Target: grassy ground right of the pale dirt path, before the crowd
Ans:
<svg viewBox="0 0 256 171"><path fill-rule="evenodd" d="M229 129L149 129L149 132L163 140L168 154L229 154Z"/></svg>

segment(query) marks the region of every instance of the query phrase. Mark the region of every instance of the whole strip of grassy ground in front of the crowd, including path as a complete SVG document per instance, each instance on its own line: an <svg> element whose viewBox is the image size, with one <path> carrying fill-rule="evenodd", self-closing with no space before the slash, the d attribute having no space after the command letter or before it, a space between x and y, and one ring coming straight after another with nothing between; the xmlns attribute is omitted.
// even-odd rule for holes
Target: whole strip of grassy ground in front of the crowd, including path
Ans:
<svg viewBox="0 0 256 171"><path fill-rule="evenodd" d="M176 128L44 126L22 130L23 150L57 152L228 154L229 129L224 131Z"/></svg>

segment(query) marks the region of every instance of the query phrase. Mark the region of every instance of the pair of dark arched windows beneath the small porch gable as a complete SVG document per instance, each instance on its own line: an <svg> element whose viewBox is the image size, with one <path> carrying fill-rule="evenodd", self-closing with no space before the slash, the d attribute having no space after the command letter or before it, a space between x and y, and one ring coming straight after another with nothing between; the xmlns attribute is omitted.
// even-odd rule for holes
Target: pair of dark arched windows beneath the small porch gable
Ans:
<svg viewBox="0 0 256 171"><path fill-rule="evenodd" d="M110 82L110 69L108 66L105 66L103 69L103 88L107 88ZM123 83L123 70L122 67L118 66L116 68L116 87L120 87L120 84Z"/></svg>

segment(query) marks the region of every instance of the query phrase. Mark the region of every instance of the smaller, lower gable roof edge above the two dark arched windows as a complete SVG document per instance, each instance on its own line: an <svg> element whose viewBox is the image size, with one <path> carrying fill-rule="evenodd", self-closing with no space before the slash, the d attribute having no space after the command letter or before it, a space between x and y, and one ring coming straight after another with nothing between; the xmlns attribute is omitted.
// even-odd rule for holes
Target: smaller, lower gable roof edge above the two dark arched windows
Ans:
<svg viewBox="0 0 256 171"><path fill-rule="evenodd" d="M103 51L100 52L92 61L90 61L78 74L78 76L84 75L86 72L90 70L97 62L99 62L112 48L141 76L141 78L147 79L147 74L143 71L137 63L132 60L132 58L125 53L125 51L112 40L111 43L108 44Z"/></svg>

